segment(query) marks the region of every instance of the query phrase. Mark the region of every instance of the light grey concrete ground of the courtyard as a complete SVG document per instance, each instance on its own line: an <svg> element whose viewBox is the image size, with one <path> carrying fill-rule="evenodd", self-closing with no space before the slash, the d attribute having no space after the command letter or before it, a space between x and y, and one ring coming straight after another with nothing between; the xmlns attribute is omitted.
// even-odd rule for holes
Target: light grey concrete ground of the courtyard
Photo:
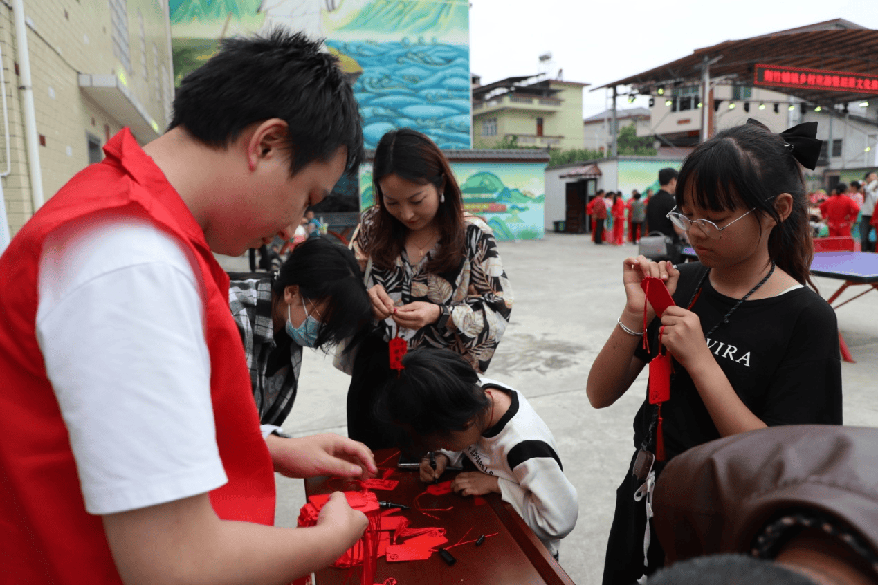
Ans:
<svg viewBox="0 0 878 585"><path fill-rule="evenodd" d="M623 309L622 262L636 248L594 246L585 235L556 233L499 246L515 306L487 375L522 391L558 439L565 473L579 492L579 522L561 545L561 564L579 585L600 583L615 488L634 448L631 423L644 398L646 370L604 410L588 403L586 380ZM228 270L248 269L244 257L219 259ZM824 298L840 283L817 279ZM849 289L843 298L860 290ZM842 367L845 423L878 426L872 396L878 389L878 294L841 307L838 325L857 360ZM331 355L306 354L284 430L345 434L348 383ZM304 503L302 482L278 476L277 491L277 524L295 525Z"/></svg>

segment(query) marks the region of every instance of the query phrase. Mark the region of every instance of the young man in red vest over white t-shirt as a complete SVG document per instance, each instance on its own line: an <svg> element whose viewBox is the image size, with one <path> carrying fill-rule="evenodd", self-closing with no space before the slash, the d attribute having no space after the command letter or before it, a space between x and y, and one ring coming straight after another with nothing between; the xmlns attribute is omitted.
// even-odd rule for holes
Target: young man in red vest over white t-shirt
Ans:
<svg viewBox="0 0 878 585"><path fill-rule="evenodd" d="M252 584L327 566L366 518L336 494L316 526L272 527L273 472L374 459L337 435L263 436L212 252L270 241L356 169L349 84L303 36L230 39L167 133L104 151L0 257L0 574Z"/></svg>

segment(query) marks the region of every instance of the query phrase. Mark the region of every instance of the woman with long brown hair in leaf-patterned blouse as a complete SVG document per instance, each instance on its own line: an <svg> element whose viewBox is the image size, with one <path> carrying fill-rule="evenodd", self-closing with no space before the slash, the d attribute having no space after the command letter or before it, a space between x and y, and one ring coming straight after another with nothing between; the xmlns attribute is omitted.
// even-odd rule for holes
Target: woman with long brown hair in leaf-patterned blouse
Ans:
<svg viewBox="0 0 878 585"><path fill-rule="evenodd" d="M457 181L438 146L408 128L378 142L376 204L351 239L376 319L356 352L348 390L348 435L372 449L392 446L373 415L376 393L392 374L387 344L445 347L479 374L491 363L509 322L512 289L493 232L464 214Z"/></svg>

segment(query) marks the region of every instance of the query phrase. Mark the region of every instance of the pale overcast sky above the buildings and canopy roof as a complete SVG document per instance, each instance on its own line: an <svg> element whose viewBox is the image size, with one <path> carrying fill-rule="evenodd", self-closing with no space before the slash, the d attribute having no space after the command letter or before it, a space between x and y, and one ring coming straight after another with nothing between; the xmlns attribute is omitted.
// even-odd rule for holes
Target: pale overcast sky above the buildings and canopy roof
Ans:
<svg viewBox="0 0 878 585"><path fill-rule="evenodd" d="M609 107L606 89L589 89L724 40L835 18L878 29L878 0L471 0L470 69L482 83L536 75L551 52L551 76L564 69L566 81L592 84L588 117Z"/></svg>

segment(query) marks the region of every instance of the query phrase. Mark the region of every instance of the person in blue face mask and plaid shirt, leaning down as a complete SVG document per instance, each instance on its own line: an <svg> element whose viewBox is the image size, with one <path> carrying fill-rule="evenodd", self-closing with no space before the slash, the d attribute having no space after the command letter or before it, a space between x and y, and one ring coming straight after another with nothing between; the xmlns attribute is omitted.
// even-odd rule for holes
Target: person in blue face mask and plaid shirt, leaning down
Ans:
<svg viewBox="0 0 878 585"><path fill-rule="evenodd" d="M276 274L229 275L229 306L241 333L263 434L276 431L296 398L302 347L325 351L371 320L354 254L327 239L296 246Z"/></svg>

